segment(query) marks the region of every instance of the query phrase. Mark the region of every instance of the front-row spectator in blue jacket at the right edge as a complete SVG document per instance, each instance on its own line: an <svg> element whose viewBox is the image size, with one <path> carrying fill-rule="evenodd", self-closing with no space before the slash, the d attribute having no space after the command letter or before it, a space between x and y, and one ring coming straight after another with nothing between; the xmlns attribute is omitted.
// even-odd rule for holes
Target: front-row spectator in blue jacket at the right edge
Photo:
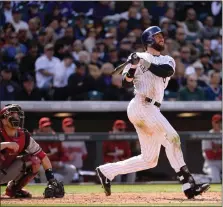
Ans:
<svg viewBox="0 0 223 207"><path fill-rule="evenodd" d="M209 74L209 86L205 89L205 97L208 101L222 100L222 87L220 85L221 76L219 72L211 71Z"/></svg>

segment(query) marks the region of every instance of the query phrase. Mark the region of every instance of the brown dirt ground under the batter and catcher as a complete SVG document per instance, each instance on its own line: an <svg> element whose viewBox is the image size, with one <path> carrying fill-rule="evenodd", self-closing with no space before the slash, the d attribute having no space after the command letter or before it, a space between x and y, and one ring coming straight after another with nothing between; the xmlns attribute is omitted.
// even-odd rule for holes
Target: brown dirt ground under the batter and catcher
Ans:
<svg viewBox="0 0 223 207"><path fill-rule="evenodd" d="M33 195L31 199L9 199L1 197L1 205L4 204L221 204L221 192L207 192L196 199L188 200L182 193L113 193L106 197L103 193L66 194L63 199L43 199Z"/></svg>

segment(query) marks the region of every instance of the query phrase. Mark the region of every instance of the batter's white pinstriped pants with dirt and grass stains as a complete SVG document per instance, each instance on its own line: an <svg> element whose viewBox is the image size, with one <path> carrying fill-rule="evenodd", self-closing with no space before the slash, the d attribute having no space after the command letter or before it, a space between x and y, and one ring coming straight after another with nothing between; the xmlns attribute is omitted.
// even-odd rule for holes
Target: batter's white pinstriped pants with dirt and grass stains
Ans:
<svg viewBox="0 0 223 207"><path fill-rule="evenodd" d="M136 95L127 109L128 118L139 137L141 154L124 161L99 166L101 172L113 180L119 174L154 168L158 163L161 145L165 147L167 158L175 172L185 165L180 146L180 137L159 108Z"/></svg>

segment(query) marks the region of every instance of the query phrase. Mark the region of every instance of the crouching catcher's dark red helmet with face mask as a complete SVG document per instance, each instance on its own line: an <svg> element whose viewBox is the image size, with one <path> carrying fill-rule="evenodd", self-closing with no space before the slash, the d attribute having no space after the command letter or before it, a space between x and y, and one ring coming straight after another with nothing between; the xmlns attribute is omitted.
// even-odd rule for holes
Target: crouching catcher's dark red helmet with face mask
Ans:
<svg viewBox="0 0 223 207"><path fill-rule="evenodd" d="M17 113L18 117L14 117L13 113ZM13 128L23 128L25 115L19 105L8 104L0 111L0 119L7 119Z"/></svg>

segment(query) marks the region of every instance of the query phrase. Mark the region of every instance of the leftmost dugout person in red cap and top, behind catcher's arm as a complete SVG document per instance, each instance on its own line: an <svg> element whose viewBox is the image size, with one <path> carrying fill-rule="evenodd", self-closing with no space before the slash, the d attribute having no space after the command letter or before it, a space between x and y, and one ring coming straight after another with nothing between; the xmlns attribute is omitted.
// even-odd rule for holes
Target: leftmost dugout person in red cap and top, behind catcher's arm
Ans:
<svg viewBox="0 0 223 207"><path fill-rule="evenodd" d="M35 133L55 134L51 128L51 120L48 117L41 118L39 120L39 130ZM47 156L49 156L49 159L54 168L55 177L57 177L58 180L62 180L64 184L71 183L73 175L76 172L76 168L74 165L64 163L64 161L67 161L68 158L64 155L64 148L62 143L60 141L39 141L38 144L42 149L44 149L44 152L47 153ZM45 183L46 178L43 168L40 168L39 175L40 181Z"/></svg>

